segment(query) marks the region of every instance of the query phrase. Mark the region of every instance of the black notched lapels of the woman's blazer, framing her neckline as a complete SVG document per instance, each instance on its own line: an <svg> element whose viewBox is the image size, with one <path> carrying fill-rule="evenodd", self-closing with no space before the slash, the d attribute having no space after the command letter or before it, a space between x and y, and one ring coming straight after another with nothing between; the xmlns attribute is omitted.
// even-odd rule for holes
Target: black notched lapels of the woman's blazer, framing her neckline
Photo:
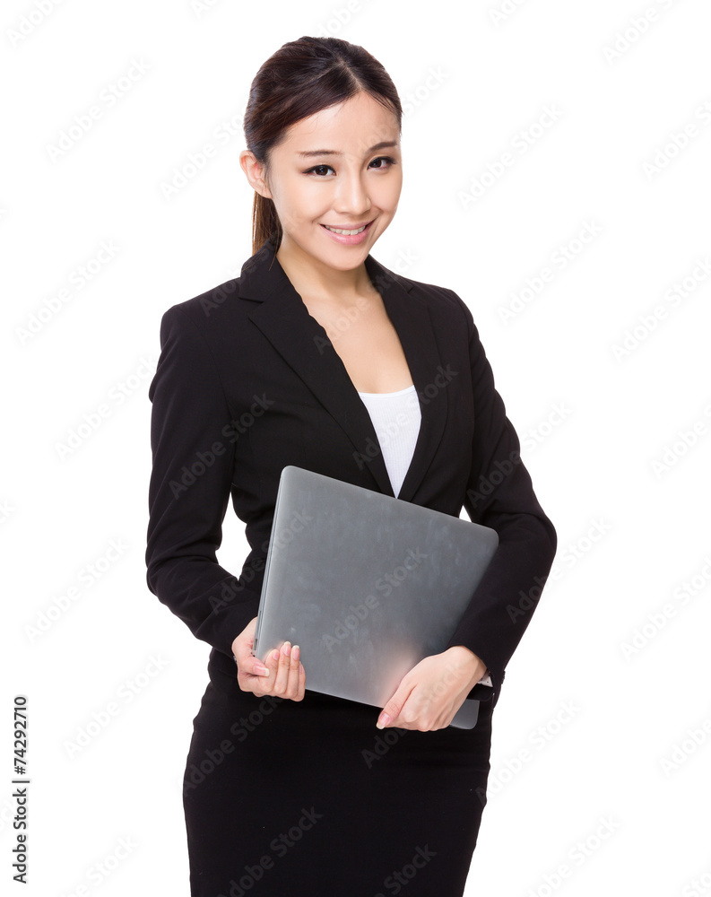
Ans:
<svg viewBox="0 0 711 897"><path fill-rule="evenodd" d="M400 338L420 400L420 433L397 496L411 501L438 448L447 419L447 389L438 386L442 360L429 309L411 293L412 283L370 255L365 265ZM272 240L267 240L242 266L238 296L258 303L249 312L249 319L341 425L380 492L394 495L368 409L324 327L309 315L279 264Z"/></svg>

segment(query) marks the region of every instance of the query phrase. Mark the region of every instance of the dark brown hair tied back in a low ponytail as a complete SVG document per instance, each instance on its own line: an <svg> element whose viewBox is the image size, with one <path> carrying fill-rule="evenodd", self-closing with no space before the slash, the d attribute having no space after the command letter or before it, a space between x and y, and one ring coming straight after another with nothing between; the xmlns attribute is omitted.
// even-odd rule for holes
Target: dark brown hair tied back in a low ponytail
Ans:
<svg viewBox="0 0 711 897"><path fill-rule="evenodd" d="M268 171L269 151L302 118L349 100L360 91L395 114L402 127L403 107L395 84L368 50L340 38L305 36L282 44L255 75L244 117L247 149ZM255 190L252 205L252 255L270 237L278 248L282 227L273 201Z"/></svg>

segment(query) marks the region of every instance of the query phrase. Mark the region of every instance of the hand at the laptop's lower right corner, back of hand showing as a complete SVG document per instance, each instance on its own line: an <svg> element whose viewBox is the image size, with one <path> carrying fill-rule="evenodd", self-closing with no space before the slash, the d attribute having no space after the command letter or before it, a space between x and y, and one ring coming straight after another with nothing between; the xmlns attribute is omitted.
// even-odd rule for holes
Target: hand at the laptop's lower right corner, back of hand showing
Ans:
<svg viewBox="0 0 711 897"><path fill-rule="evenodd" d="M486 672L486 664L464 645L424 658L403 675L377 718L377 727L445 728Z"/></svg>

